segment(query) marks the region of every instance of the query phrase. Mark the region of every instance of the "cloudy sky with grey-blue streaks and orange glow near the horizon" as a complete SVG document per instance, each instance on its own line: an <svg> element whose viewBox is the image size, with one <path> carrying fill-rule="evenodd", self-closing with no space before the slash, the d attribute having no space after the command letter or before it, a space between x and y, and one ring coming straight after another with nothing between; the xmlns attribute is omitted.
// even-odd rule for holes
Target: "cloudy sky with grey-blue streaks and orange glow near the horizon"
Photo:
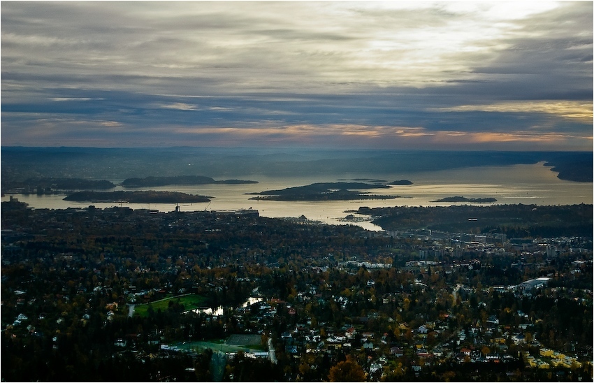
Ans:
<svg viewBox="0 0 594 383"><path fill-rule="evenodd" d="M593 150L592 1L1 1L3 146Z"/></svg>

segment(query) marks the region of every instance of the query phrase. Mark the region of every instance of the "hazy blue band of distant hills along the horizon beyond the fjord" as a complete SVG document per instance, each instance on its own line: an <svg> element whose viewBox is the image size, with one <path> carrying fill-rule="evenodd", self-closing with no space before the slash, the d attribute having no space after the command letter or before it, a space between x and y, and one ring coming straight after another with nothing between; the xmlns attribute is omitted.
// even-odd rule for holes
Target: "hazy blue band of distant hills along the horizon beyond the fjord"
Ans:
<svg viewBox="0 0 594 383"><path fill-rule="evenodd" d="M216 178L248 175L338 175L354 177L440 171L545 161L563 180L592 182L593 152L498 152L429 150L314 150L217 147L1 147L2 188L27 178L172 177L208 171Z"/></svg>

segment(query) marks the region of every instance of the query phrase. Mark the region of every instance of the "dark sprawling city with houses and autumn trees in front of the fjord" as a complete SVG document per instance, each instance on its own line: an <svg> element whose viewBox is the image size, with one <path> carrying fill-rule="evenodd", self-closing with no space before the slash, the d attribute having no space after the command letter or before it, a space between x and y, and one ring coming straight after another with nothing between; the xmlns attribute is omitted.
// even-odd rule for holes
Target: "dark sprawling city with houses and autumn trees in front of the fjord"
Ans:
<svg viewBox="0 0 594 383"><path fill-rule="evenodd" d="M546 209L515 237L11 198L2 380L592 380L592 237L559 219L592 205Z"/></svg>

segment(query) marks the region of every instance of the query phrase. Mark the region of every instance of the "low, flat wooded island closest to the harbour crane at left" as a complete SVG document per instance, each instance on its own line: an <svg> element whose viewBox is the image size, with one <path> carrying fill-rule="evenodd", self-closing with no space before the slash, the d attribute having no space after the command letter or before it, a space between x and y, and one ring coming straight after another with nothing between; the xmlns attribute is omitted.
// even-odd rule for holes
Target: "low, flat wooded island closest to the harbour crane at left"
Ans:
<svg viewBox="0 0 594 383"><path fill-rule="evenodd" d="M64 201L77 202L130 202L130 203L197 203L210 202L208 196L181 192L76 192L66 196Z"/></svg>

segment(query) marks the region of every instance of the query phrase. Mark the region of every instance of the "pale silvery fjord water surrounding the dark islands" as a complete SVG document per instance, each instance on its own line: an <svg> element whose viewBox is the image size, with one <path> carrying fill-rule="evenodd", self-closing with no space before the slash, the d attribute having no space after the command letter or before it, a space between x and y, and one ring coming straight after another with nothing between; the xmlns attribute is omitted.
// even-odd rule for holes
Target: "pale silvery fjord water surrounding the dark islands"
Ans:
<svg viewBox="0 0 594 383"><path fill-rule="evenodd" d="M390 206L447 206L454 203L434 202L437 199L451 196L466 198L495 198L495 204L523 203L526 205L572 205L593 203L592 182L571 182L559 180L551 167L543 162L530 165L513 166L481 166L474 168L457 168L444 171L427 171L414 173L398 173L391 175L337 174L291 177L270 177L260 175L236 178L259 181L257 184L240 185L170 185L166 187L149 187L126 190L169 190L188 194L212 196L210 203L180 204L181 211L196 210L239 210L253 208L259 210L263 217L300 217L325 222L328 224L357 224L370 230L380 230L379 226L370 222L340 221L349 215L347 210L357 210L361 206L370 208ZM390 189L370 189L369 194L399 196L393 199L370 199L358 201L262 201L250 200L254 195L249 193L263 192L272 189L309 185L313 182L337 182L365 178L369 180L410 180L412 185L393 186ZM122 180L112 180L115 183ZM115 190L122 190L116 187ZM163 212L175 210L173 203L77 203L64 201L64 195L15 195L19 201L28 203L31 208L64 209L68 207L86 208L95 205L97 208L109 208L125 205L133 209L154 209ZM8 201L9 195L2 201ZM461 204L461 203L456 203ZM468 203L466 203L468 204ZM490 205L481 203L477 205Z"/></svg>

